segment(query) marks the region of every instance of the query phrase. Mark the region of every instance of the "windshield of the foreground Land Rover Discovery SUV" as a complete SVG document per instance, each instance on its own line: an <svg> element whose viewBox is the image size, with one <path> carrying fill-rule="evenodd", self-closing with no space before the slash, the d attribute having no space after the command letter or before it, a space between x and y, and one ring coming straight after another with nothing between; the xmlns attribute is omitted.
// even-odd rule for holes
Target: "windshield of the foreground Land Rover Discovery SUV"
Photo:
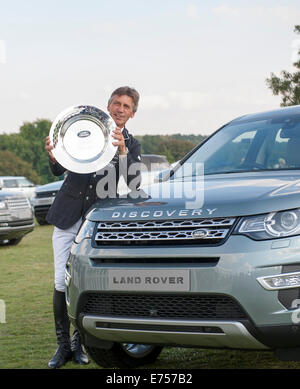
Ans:
<svg viewBox="0 0 300 389"><path fill-rule="evenodd" d="M228 124L200 146L174 178L284 169L300 169L299 115Z"/></svg>

